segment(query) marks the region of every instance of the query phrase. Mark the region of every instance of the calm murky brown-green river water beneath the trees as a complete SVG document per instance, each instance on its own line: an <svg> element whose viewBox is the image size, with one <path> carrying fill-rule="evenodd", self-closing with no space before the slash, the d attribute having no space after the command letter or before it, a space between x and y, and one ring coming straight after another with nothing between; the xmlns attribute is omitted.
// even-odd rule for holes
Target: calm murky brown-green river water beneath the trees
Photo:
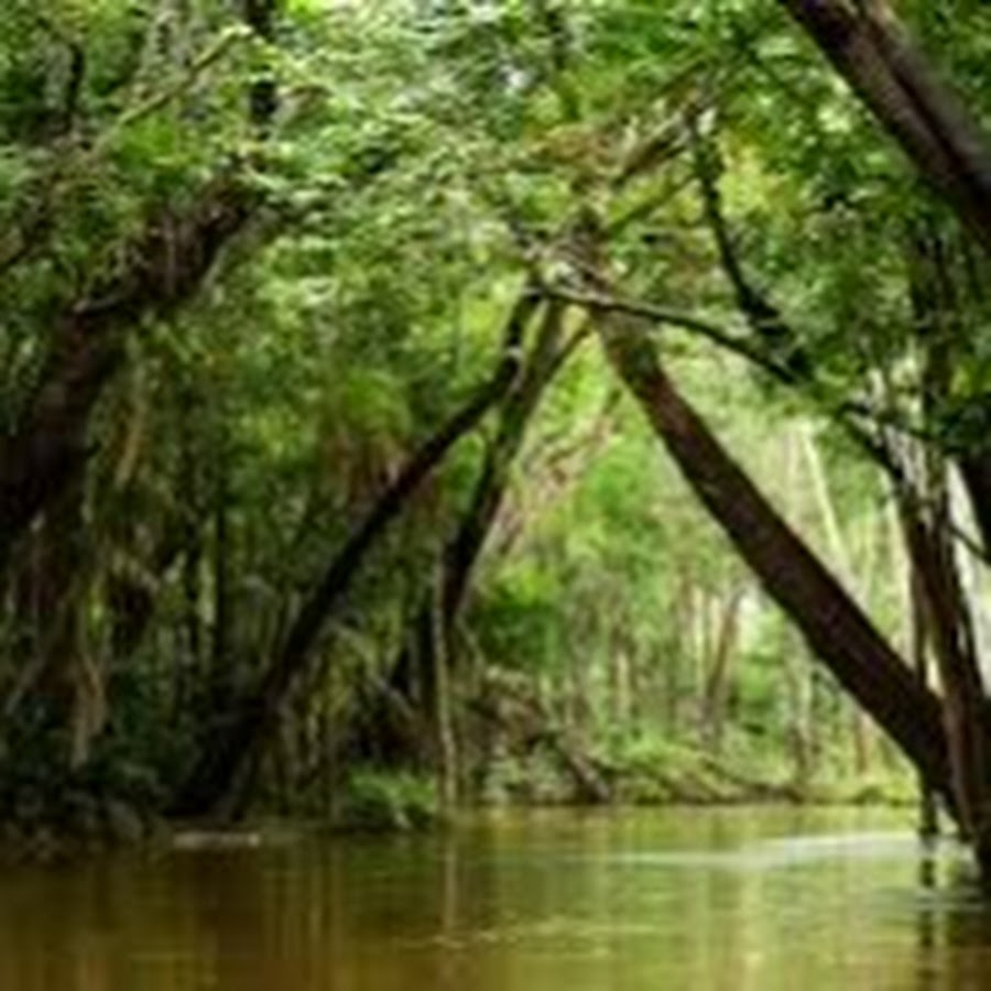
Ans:
<svg viewBox="0 0 991 991"><path fill-rule="evenodd" d="M991 989L991 910L908 812L473 816L193 836L0 880L0 991Z"/></svg>

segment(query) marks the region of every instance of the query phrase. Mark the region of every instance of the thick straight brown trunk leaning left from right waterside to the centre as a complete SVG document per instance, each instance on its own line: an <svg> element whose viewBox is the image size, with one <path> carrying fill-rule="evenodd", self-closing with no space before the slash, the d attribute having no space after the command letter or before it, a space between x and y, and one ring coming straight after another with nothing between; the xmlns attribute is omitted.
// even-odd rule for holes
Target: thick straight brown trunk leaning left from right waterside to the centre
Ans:
<svg viewBox="0 0 991 991"><path fill-rule="evenodd" d="M601 225L587 211L576 235L586 276L611 291ZM701 503L802 631L812 652L867 709L956 812L939 699L917 683L842 586L787 525L664 371L640 322L602 313L610 364Z"/></svg>

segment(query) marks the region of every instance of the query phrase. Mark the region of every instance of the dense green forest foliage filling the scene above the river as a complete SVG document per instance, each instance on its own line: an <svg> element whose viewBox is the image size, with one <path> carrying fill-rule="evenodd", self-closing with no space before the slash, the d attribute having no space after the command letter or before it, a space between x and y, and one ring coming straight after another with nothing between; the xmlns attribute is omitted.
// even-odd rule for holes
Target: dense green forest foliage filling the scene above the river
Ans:
<svg viewBox="0 0 991 991"><path fill-rule="evenodd" d="M787 6L6 4L13 831L907 781L617 350L966 706L985 254Z"/></svg>

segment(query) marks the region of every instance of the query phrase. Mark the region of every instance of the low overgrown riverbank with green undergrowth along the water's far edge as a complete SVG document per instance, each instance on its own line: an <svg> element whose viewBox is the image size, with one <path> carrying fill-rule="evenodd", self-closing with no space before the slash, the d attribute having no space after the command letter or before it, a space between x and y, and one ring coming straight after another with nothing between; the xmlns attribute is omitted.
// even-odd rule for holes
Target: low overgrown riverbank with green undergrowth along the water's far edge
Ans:
<svg viewBox="0 0 991 991"><path fill-rule="evenodd" d="M739 741L737 741L739 743ZM465 809L589 807L718 807L744 805L907 807L915 782L899 766L870 775L838 773L826 765L815 777L796 780L780 760L754 752L740 759L699 748L652 740L565 750L535 747L493 755L461 783ZM112 847L163 846L189 826L164 816L149 792L99 787L19 791L0 821L0 858L52 860L85 857ZM282 806L261 795L252 815L319 830L350 834L416 832L450 818L433 777L410 772L359 769L329 795ZM196 829L203 824L194 824ZM207 824L213 832L216 820Z"/></svg>

